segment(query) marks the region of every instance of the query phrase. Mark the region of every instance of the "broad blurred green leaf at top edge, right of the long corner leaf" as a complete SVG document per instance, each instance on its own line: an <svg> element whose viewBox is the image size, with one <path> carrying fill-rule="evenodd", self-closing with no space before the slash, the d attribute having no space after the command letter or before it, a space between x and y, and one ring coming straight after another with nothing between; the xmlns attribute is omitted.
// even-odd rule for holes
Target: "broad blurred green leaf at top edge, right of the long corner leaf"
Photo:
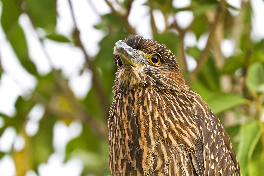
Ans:
<svg viewBox="0 0 264 176"><path fill-rule="evenodd" d="M25 0L25 5L29 16L36 26L44 28L48 33L55 30L56 0Z"/></svg>

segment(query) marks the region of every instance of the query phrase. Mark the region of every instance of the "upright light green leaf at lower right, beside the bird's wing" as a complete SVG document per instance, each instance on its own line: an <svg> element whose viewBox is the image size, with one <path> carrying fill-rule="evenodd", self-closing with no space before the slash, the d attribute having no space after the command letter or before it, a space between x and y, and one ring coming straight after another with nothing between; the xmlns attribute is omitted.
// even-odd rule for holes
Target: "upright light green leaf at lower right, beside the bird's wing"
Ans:
<svg viewBox="0 0 264 176"><path fill-rule="evenodd" d="M242 175L247 175L252 153L260 139L262 128L257 121L252 121L241 126L241 139L238 147L238 161Z"/></svg>

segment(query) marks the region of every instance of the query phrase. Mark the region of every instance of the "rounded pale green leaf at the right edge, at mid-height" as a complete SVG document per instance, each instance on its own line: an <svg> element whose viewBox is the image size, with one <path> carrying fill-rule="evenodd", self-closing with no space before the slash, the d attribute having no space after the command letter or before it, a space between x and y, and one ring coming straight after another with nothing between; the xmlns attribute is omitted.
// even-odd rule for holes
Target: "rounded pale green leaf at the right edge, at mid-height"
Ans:
<svg viewBox="0 0 264 176"><path fill-rule="evenodd" d="M261 62L255 62L249 66L246 83L251 91L257 91L257 88L264 84L264 65Z"/></svg>

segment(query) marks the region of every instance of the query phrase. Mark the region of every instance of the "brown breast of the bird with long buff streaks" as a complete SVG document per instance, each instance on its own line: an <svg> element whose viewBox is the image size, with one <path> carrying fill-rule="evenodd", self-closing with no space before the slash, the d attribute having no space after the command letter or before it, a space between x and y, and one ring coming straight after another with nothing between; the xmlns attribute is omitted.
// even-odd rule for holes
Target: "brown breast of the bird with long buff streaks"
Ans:
<svg viewBox="0 0 264 176"><path fill-rule="evenodd" d="M190 113L190 100L176 92L142 88L116 93L109 118L112 173L184 170L190 164L186 149L193 150L198 136Z"/></svg>

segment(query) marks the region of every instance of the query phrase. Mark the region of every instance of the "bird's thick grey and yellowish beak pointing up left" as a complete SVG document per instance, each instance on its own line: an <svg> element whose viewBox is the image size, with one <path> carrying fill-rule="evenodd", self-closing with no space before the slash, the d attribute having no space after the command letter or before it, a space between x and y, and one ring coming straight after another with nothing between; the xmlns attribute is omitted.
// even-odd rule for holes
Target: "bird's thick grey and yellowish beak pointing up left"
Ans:
<svg viewBox="0 0 264 176"><path fill-rule="evenodd" d="M122 41L115 43L114 54L118 54L124 67L132 65L138 69L144 69L148 63L143 52L135 50Z"/></svg>

